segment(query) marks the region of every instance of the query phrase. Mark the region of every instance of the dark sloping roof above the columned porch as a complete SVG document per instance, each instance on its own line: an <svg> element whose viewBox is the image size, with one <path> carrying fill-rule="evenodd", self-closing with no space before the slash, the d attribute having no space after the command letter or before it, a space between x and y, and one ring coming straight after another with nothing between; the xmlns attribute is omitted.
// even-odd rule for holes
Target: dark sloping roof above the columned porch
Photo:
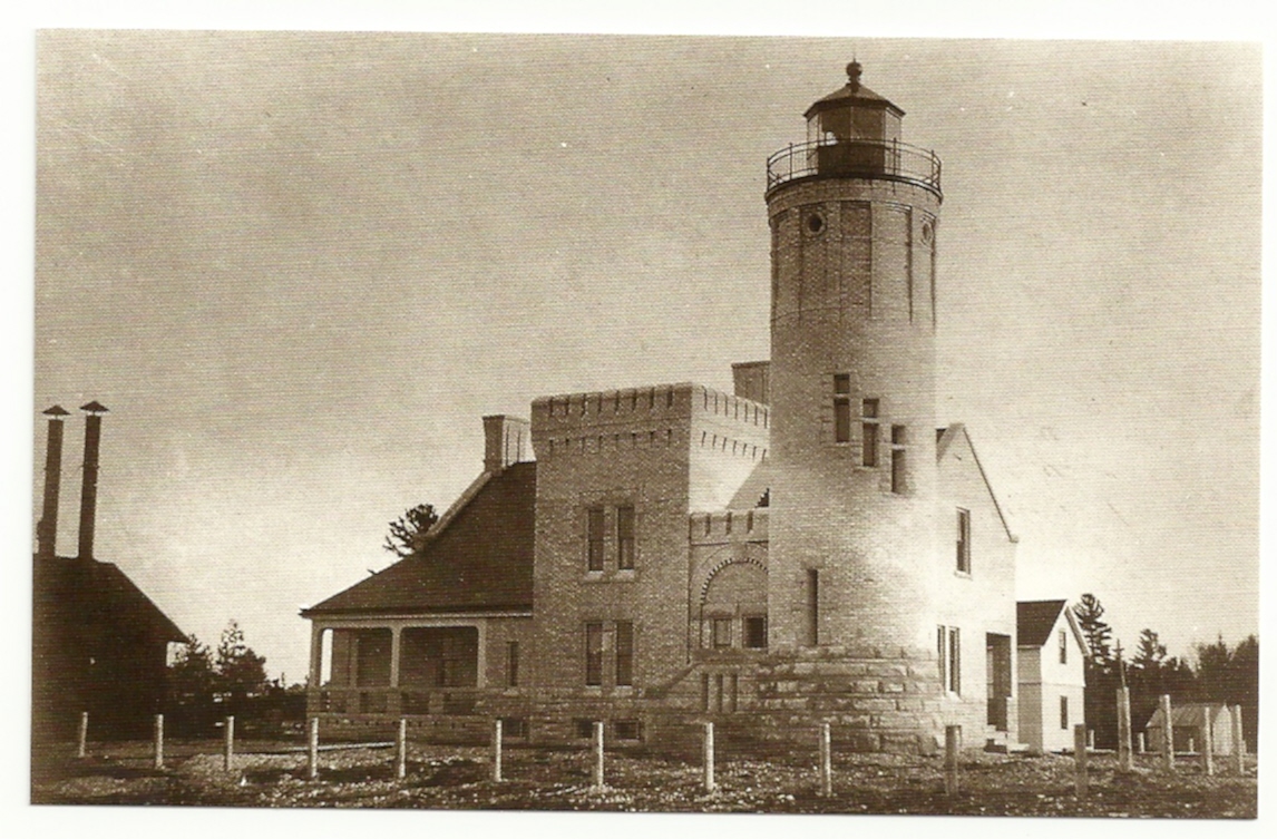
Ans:
<svg viewBox="0 0 1277 839"><path fill-rule="evenodd" d="M536 464L492 474L416 556L401 559L301 617L530 610Z"/></svg>

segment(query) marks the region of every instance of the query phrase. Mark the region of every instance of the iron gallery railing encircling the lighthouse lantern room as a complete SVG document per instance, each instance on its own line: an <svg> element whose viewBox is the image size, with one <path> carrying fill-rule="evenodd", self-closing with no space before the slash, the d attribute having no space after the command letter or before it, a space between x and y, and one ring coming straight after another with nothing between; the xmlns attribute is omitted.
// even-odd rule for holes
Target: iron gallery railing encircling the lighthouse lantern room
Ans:
<svg viewBox="0 0 1277 839"><path fill-rule="evenodd" d="M868 178L940 192L935 152L899 140L816 140L787 146L767 158L767 192L801 178Z"/></svg>

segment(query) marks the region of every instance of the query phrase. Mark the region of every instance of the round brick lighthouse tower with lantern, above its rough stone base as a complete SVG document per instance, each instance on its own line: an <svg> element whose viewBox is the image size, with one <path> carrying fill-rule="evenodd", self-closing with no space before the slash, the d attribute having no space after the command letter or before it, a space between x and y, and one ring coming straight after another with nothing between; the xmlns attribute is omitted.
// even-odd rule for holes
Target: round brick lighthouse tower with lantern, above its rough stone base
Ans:
<svg viewBox="0 0 1277 839"><path fill-rule="evenodd" d="M767 161L774 650L935 651L940 160L848 82Z"/></svg>

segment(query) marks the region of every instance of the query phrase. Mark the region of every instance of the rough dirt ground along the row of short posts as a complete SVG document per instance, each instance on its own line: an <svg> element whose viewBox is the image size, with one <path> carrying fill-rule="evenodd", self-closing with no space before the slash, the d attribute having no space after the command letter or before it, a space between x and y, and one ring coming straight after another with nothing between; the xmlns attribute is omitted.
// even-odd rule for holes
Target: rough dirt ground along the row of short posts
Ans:
<svg viewBox="0 0 1277 839"><path fill-rule="evenodd" d="M306 779L296 745L239 743L231 771L221 743L170 742L155 769L147 743L94 746L78 760L70 746L36 755L32 803L229 807L398 807L428 810L599 810L628 812L838 812L913 815L1254 819L1257 765L1231 771L1225 759L1207 776L1195 759L1176 771L1153 757L1116 771L1111 755L1091 757L1089 790L1074 794L1073 759L968 753L959 792L945 796L941 760L835 755L834 794L819 796L815 765L776 765L720 756L718 789L701 767L650 755L609 753L605 787L591 785L589 750L507 748L503 782L490 780L485 748L411 743L407 776L395 778L393 748L326 751L319 779ZM292 750L292 751L290 751ZM254 753L255 752L255 753ZM263 753L271 752L271 753Z"/></svg>

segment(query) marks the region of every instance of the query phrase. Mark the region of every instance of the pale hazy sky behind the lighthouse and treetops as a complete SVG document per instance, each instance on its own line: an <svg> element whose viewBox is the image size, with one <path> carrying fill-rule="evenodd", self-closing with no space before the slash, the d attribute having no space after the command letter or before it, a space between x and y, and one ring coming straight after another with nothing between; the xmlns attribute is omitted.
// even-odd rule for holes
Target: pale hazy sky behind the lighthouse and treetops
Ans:
<svg viewBox="0 0 1277 839"><path fill-rule="evenodd" d="M1258 43L45 32L31 533L38 412L101 401L96 556L299 681L481 415L767 356L764 162L853 55L944 161L937 412L1018 595L1258 632Z"/></svg>

